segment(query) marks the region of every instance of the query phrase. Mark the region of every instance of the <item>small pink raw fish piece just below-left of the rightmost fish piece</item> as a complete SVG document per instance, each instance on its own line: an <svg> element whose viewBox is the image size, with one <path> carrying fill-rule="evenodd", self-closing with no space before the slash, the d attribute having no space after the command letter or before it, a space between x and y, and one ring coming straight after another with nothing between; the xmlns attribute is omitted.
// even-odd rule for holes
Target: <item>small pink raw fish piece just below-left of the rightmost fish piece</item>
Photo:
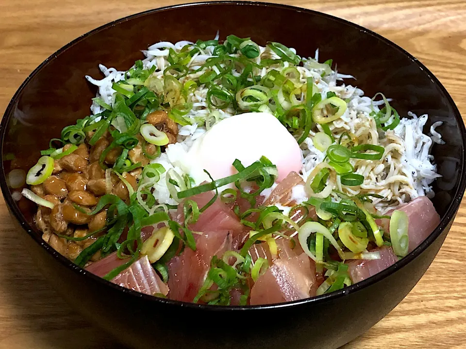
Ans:
<svg viewBox="0 0 466 349"><path fill-rule="evenodd" d="M398 257L391 247L383 246L371 252L373 251L380 253L380 259L353 260L348 263L348 272L353 283L365 280L398 262Z"/></svg>

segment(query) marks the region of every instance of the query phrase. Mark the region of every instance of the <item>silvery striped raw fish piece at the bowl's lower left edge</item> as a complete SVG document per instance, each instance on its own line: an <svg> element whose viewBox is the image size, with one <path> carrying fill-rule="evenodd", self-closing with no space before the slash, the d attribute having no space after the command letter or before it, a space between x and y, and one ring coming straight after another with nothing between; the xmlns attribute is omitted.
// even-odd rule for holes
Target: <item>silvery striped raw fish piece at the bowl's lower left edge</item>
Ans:
<svg viewBox="0 0 466 349"><path fill-rule="evenodd" d="M148 295L161 293L166 296L168 294L168 287L150 265L147 255L139 258L129 268L119 273L112 282Z"/></svg>

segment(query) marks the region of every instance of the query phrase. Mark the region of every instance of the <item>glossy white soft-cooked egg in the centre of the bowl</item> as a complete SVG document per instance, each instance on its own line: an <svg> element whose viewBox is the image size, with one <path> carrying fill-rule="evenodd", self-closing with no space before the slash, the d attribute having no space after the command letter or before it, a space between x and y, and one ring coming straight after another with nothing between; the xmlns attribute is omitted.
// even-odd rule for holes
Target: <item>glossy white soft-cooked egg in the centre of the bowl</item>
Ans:
<svg viewBox="0 0 466 349"><path fill-rule="evenodd" d="M205 169L214 179L236 174L232 165L235 159L247 167L262 156L277 166L277 182L291 171L301 170L299 144L275 116L266 112L249 112L220 121L188 152L196 167Z"/></svg>

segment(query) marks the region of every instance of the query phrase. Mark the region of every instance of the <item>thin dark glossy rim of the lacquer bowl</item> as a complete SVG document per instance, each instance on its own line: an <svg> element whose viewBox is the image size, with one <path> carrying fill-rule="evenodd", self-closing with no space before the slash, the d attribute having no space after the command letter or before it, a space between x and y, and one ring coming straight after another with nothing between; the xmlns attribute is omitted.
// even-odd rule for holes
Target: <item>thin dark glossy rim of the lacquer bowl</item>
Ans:
<svg viewBox="0 0 466 349"><path fill-rule="evenodd" d="M68 269L73 270L76 273L79 273L81 275L84 275L84 277L90 277L94 279L94 281L101 283L104 286L107 287L113 287L117 291L123 292L128 294L130 297L138 297L142 298L146 301L151 301L151 302L156 302L160 304L165 304L165 305L172 305L172 306L183 306L183 307L188 307L188 308L194 308L194 309L202 309L206 311L257 311L260 309L277 309L277 308L294 308L300 305L308 304L316 304L316 303L324 303L327 301L331 301L333 299L337 299L340 297L348 296L359 289L363 289L366 287L369 287L380 280L384 279L385 277L389 276L390 274L394 273L396 270L399 270L406 266L408 263L410 263L412 260L414 260L418 255L420 255L424 250L426 250L432 243L433 241L439 237L439 235L444 231L444 229L447 227L447 225L452 222L453 218L456 215L456 212L460 206L461 199L463 197L463 194L466 189L466 174L465 174L465 159L466 159L466 154L463 151L462 152L462 161L461 161L461 171L460 171L460 181L459 185L457 186L456 193L449 205L449 208L444 215L444 217L441 219L440 223L437 225L435 230L431 233L431 235L426 238L419 246L416 247L411 253L406 255L404 258L400 259L398 262L396 262L394 265L388 267L385 270L382 270L381 272L378 272L374 276L371 276L367 278L366 280L363 280L359 283L356 283L354 285L345 287L341 290L334 291L329 294L323 294L320 296L316 296L313 298L307 298L303 300L298 300L298 301L288 301L288 302L283 302L283 303L275 303L275 304L262 304L262 305L246 305L246 306L239 306L239 305L230 305L230 306L218 306L218 305L206 305L206 304L195 304L195 303L190 303L190 302L184 302L184 301L174 301L174 300L169 300L169 299L163 299L163 298L158 298L158 297L153 297L150 295L146 295L143 293L139 293L137 291L133 291L131 289L124 288L122 286L118 286L116 284L113 284L110 281L106 281L99 276L96 276L86 270L84 270L81 267L78 267L75 265L73 262L71 262L69 259L66 257L62 256L58 252L56 252L51 246L46 243L42 238L36 234L31 225L26 222L19 211L15 201L13 200L10 189L7 186L6 183L6 174L5 174L5 169L3 168L3 140L6 134L6 129L8 127L9 119L12 114L13 107L17 103L18 97L21 95L23 89L27 85L28 81L32 79L35 75L37 75L42 68L44 68L50 61L57 59L61 53L66 51L68 48L74 46L75 44L78 44L79 42L85 40L88 36L91 36L95 33L98 33L100 31L105 30L108 27L114 26L116 24L119 24L121 22L125 22L129 19L134 19L137 17L142 17L146 16L152 13L157 13L157 12L164 12L164 11L171 11L177 8L186 8L186 7L205 7L205 6L258 6L258 7L275 7L278 10L280 9L286 9L286 10L293 10L293 11L298 11L298 12L304 12L308 14L312 14L313 16L320 16L323 17L327 20L332 20L336 22L343 23L345 25L349 25L353 28L359 29L360 32L363 32L367 35L373 36L376 39L380 40L384 44L397 49L399 52L407 56L412 62L417 64L420 70L424 72L440 89L442 93L444 93L447 97L447 100L452 107L453 110L453 117L455 117L458 126L460 128L460 133L463 139L463 149L465 148L466 144L466 129L465 129L465 124L463 122L463 119L461 117L461 114L453 101L452 97L449 95L448 91L446 88L442 85L442 83L433 75L433 73L422 63L420 63L413 55L408 53L405 49L399 47L397 44L393 43L392 41L384 38L382 35L377 34L376 32L373 32L369 29L366 29L358 24L352 23L350 21L347 21L345 19L328 15L325 13L321 13L315 10L307 9L307 8L301 8L297 6L291 6L291 5L284 5L284 4L278 4L278 3L271 3L271 2L254 2L254 1L238 1L238 0L232 0L232 1L200 1L200 2L193 2L193 3L183 3L183 4L176 4L176 5L170 5L170 6L165 6L165 7L160 7L160 8L155 8L155 9L150 9L147 11L139 12L130 16L125 16L119 19L116 19L112 22L106 23L104 25L101 25L100 27L93 29L89 32L84 33L83 35L77 37L76 39L72 40L69 42L67 45L63 46L62 48L58 49L54 53L52 53L44 62L42 62L40 65L38 65L31 74L21 83L20 87L17 89L16 93L13 95L12 99L8 103L8 106L3 114L3 118L0 123L0 162L1 162L1 171L2 175L0 175L0 187L1 191L3 194L3 197L5 198L5 202L7 203L7 206L10 210L10 212L13 213L15 216L16 220L20 223L21 227L28 233L28 235L33 238L38 244L40 244L49 254L51 254L59 263L65 265Z"/></svg>

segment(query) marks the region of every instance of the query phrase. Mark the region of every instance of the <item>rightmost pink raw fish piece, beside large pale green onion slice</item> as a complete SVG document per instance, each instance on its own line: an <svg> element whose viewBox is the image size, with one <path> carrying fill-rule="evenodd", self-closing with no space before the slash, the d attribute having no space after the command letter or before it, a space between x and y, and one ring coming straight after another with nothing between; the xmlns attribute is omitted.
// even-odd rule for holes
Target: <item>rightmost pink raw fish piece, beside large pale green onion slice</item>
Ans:
<svg viewBox="0 0 466 349"><path fill-rule="evenodd" d="M422 241L431 235L435 227L440 223L440 216L427 196L419 196L408 204L399 206L396 209L406 212L409 218L409 252L413 251ZM391 215L392 212L390 211L387 214ZM389 220L383 219L382 221L382 226L389 232Z"/></svg>

